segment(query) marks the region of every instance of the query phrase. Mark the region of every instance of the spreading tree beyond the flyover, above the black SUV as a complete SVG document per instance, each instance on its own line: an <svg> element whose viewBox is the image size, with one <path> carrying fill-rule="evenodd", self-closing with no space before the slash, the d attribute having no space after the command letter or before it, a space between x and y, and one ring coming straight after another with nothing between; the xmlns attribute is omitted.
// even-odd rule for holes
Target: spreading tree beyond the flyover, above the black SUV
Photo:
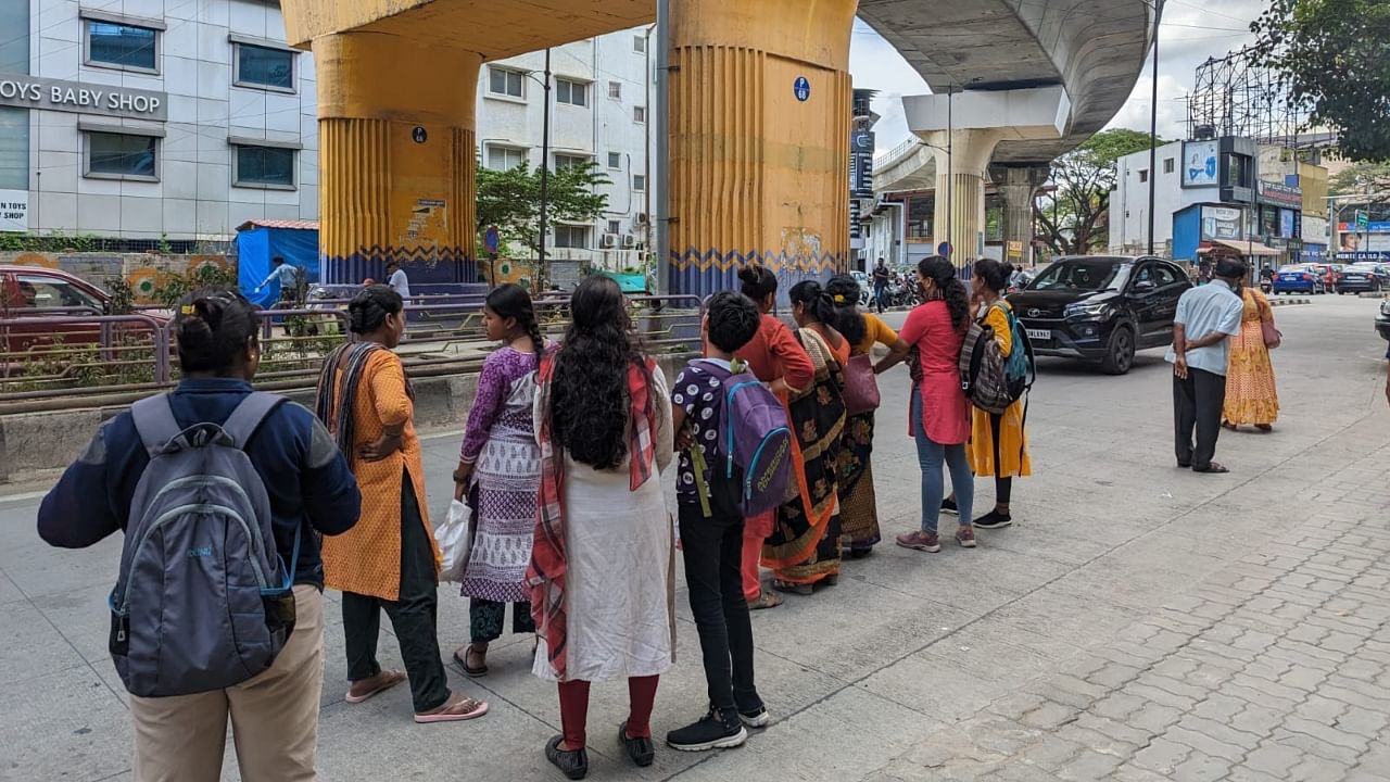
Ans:
<svg viewBox="0 0 1390 782"><path fill-rule="evenodd" d="M1038 196L1042 241L1058 255L1086 255L1108 242L1115 161L1148 149L1148 134L1101 131L1052 161L1052 192ZM1162 139L1158 145L1162 146ZM1147 163L1145 163L1147 166Z"/></svg>

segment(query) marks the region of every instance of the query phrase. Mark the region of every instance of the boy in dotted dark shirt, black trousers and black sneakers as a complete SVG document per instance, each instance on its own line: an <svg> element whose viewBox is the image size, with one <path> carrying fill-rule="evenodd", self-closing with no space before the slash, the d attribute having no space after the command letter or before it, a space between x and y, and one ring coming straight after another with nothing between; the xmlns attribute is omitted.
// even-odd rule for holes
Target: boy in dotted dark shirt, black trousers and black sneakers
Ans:
<svg viewBox="0 0 1390 782"><path fill-rule="evenodd" d="M741 575L742 473L726 474L733 454L720 438L731 415L723 394L727 378L752 378L734 352L758 334L760 319L748 296L714 294L705 320L705 358L685 365L671 391L681 445L676 481L681 554L710 704L702 719L667 733L666 743L685 751L737 747L748 739L745 725L769 724L753 678L753 629Z"/></svg>

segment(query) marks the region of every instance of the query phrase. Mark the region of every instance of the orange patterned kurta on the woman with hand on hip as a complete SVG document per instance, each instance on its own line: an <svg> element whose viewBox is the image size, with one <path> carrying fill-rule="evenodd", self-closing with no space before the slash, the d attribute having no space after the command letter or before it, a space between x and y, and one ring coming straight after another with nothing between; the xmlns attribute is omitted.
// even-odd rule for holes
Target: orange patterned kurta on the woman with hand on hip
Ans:
<svg viewBox="0 0 1390 782"><path fill-rule="evenodd" d="M342 372L334 378L334 408L342 399ZM424 466L420 438L416 437L414 404L406 391L406 370L391 351L375 351L361 373L361 387L353 408L356 454L375 442L388 426L404 424L400 451L379 462L352 461L353 474L361 488L361 516L343 534L324 537L324 583L336 590L398 600L400 597L400 490L402 472L420 504L425 537L434 544L434 527L425 508ZM332 420L329 417L329 420ZM435 562L439 551L435 548ZM438 565L436 565L438 566Z"/></svg>

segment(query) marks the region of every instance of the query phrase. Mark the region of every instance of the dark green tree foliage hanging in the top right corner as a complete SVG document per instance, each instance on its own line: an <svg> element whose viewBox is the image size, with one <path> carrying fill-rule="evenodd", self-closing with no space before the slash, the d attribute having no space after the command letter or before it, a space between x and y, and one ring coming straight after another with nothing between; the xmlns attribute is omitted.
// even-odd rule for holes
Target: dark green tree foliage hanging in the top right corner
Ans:
<svg viewBox="0 0 1390 782"><path fill-rule="evenodd" d="M1390 159L1390 3L1272 0L1252 61L1273 70L1309 125L1330 125L1351 160Z"/></svg>

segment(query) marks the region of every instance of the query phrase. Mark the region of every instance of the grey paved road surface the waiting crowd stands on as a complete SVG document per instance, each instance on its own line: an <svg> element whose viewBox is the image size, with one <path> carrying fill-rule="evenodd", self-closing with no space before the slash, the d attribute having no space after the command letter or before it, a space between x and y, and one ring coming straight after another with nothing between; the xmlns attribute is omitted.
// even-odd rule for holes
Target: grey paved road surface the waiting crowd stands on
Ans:
<svg viewBox="0 0 1390 782"><path fill-rule="evenodd" d="M883 545L847 562L838 586L756 615L776 722L739 750L659 750L634 769L613 739L626 687L595 686L589 778L1390 781L1390 410L1376 303L1280 308L1283 417L1270 436L1222 434L1230 476L1172 466L1158 356L1122 378L1044 362L1029 412L1037 474L1015 487L1016 526L980 532L973 551ZM905 383L884 377L876 438L890 538L917 523ZM425 451L439 509L457 436ZM992 500L986 481L977 494ZM35 505L0 497L0 779L129 779L125 701L104 651L118 541L53 551L33 534ZM448 587L441 597L448 657L467 640L467 605ZM677 604L659 735L706 699L684 591ZM485 679L452 671L453 686L492 703L486 718L416 726L403 689L342 700L336 605L328 616L322 779L560 778L541 756L559 724L555 692L527 672L527 639L495 646ZM382 662L399 665L389 629ZM232 763L224 776L238 778Z"/></svg>

